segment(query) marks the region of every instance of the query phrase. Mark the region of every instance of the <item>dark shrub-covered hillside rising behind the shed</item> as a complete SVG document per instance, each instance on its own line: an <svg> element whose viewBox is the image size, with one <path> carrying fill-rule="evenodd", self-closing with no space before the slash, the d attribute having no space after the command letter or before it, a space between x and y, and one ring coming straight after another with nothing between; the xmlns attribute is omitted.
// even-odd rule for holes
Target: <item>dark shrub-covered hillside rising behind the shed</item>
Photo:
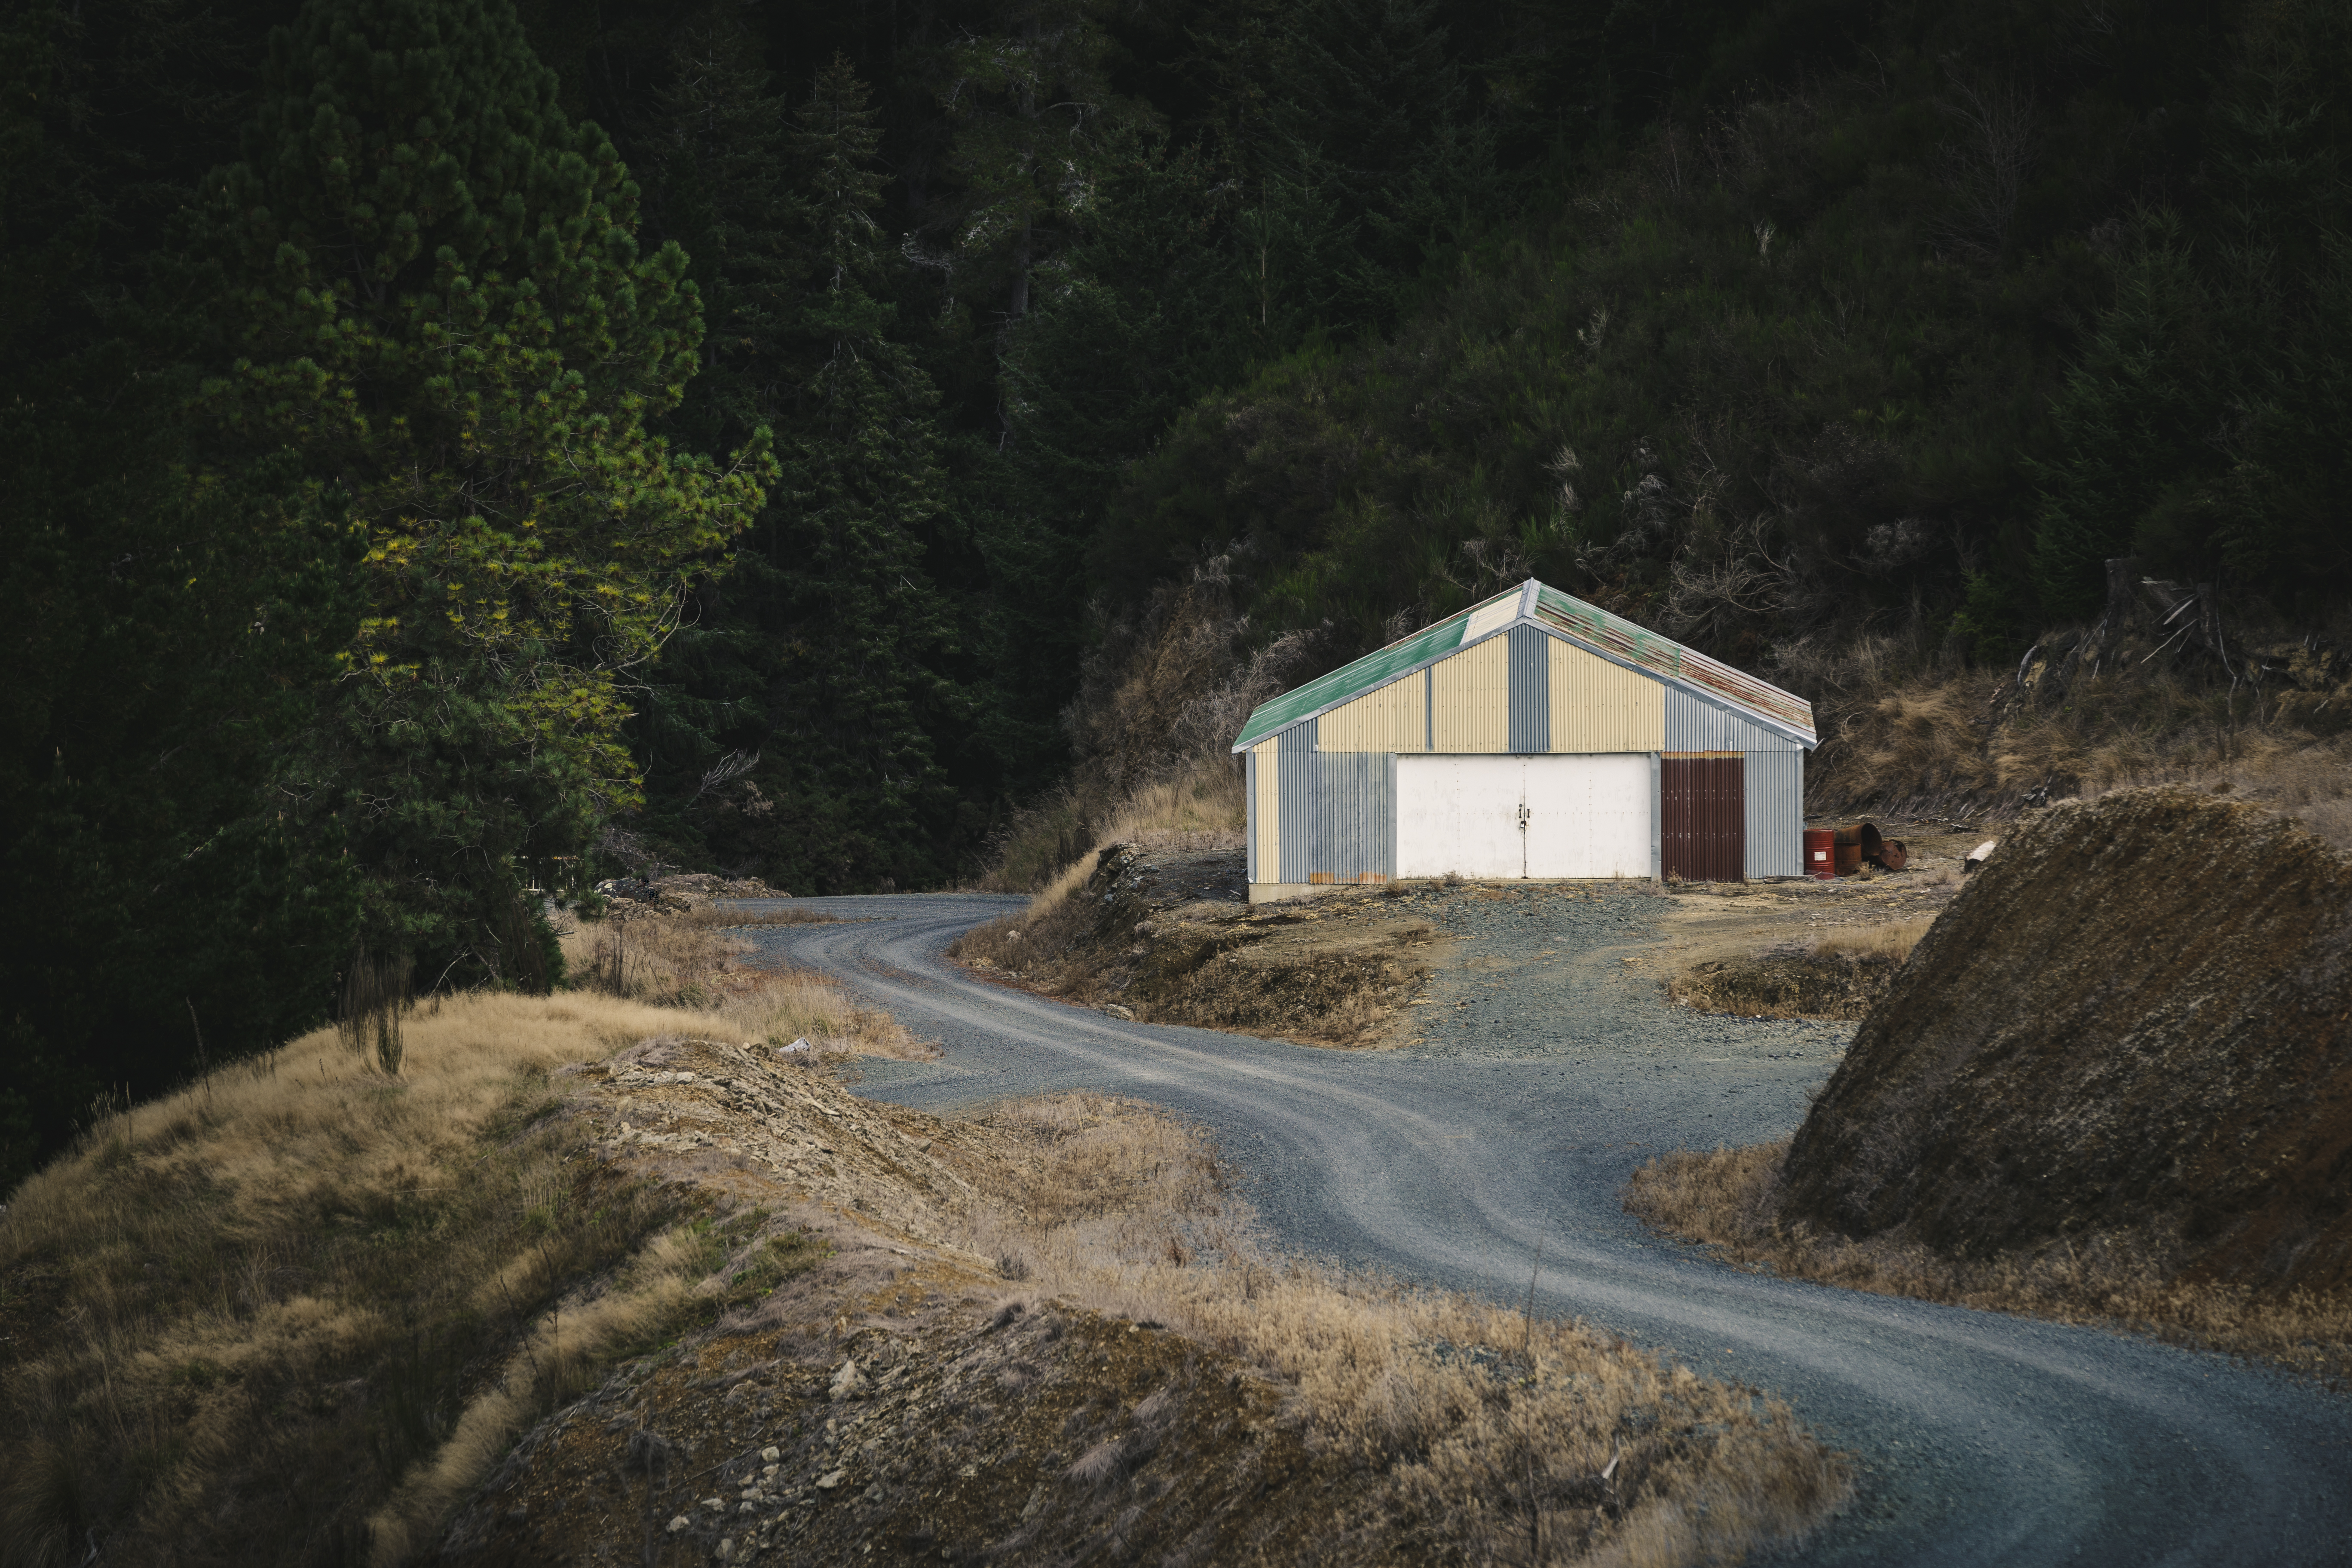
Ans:
<svg viewBox="0 0 2352 1568"><path fill-rule="evenodd" d="M2227 40L2136 12L2034 80L1987 45L2077 24L1875 26L1870 75L1668 115L1385 341L1202 400L1127 473L1101 581L1134 602L1225 552L1256 625L1331 625L1331 661L1524 574L1750 665L1886 616L1999 658L2096 611L2119 552L2340 599L2333 12ZM2211 195L2126 221L2199 153Z"/></svg>

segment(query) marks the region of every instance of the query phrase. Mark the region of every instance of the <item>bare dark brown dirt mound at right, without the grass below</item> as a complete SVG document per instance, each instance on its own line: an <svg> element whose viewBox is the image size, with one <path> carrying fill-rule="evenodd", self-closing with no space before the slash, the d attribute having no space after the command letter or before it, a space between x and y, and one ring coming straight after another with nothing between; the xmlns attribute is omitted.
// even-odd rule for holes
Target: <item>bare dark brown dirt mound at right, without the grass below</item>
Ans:
<svg viewBox="0 0 2352 1568"><path fill-rule="evenodd" d="M2027 818L1863 1023L1780 1208L1955 1253L2143 1232L2352 1286L2352 863L2211 795Z"/></svg>

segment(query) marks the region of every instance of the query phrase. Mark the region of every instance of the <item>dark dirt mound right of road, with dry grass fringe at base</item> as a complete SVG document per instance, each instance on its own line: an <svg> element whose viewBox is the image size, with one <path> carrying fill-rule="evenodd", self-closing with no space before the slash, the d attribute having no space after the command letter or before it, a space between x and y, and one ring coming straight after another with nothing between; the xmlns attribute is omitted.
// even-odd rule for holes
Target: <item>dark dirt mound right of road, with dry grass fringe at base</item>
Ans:
<svg viewBox="0 0 2352 1568"><path fill-rule="evenodd" d="M1625 1206L1748 1267L2352 1385L2352 863L2187 790L2030 816L1792 1143Z"/></svg>

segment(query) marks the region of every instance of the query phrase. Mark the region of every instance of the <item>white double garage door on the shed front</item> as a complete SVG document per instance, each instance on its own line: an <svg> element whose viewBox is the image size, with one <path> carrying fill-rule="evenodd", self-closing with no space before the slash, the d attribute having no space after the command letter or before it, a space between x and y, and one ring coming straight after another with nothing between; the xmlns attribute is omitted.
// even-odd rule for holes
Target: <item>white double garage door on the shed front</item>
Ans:
<svg viewBox="0 0 2352 1568"><path fill-rule="evenodd" d="M1649 877L1649 757L1397 757L1399 877Z"/></svg>

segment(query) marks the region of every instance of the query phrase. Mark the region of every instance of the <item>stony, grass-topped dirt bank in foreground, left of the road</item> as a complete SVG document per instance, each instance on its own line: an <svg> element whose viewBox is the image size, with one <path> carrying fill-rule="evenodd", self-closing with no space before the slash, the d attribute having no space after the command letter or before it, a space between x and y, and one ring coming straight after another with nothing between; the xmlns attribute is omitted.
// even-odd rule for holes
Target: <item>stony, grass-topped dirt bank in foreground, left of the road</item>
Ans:
<svg viewBox="0 0 2352 1568"><path fill-rule="evenodd" d="M717 1321L532 1432L437 1561L1684 1563L1844 1495L1750 1389L1258 1251L1141 1105L943 1121L710 1039L560 1081L710 1204Z"/></svg>

